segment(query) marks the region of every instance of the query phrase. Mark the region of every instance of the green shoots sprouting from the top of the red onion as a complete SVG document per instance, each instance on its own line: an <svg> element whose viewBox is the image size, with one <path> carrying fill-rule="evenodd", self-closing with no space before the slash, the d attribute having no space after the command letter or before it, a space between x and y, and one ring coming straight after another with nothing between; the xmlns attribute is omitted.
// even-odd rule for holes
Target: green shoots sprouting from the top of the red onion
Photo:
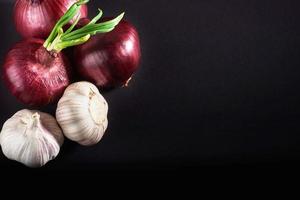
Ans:
<svg viewBox="0 0 300 200"><path fill-rule="evenodd" d="M48 51L54 51L56 53L60 52L61 50L83 44L87 42L91 36L97 33L107 33L112 31L122 20L124 17L124 12L121 13L116 18L97 23L103 15L102 10L99 10L99 14L95 16L90 23L73 31L74 27L77 25L78 21L80 20L80 14L76 17L76 20L73 24L67 29L66 32L63 31L63 27L71 21L76 14L78 14L81 5L88 3L89 0L79 0L74 3L69 10L59 19L59 21L54 26L52 32L50 33L49 37L44 43L44 47Z"/></svg>

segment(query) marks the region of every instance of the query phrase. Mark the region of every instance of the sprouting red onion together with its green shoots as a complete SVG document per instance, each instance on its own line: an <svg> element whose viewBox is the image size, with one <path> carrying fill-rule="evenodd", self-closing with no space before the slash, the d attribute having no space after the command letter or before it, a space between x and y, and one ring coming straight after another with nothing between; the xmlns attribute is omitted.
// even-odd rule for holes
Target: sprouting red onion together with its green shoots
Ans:
<svg viewBox="0 0 300 200"><path fill-rule="evenodd" d="M58 20L49 37L27 39L16 44L7 54L3 78L9 90L21 102L32 105L46 105L57 101L70 83L69 62L61 51L67 47L83 44L92 35L113 30L124 13L103 23L97 23L102 11L87 25L73 30L79 21L78 13L89 0L78 0ZM64 31L77 15L75 21Z"/></svg>

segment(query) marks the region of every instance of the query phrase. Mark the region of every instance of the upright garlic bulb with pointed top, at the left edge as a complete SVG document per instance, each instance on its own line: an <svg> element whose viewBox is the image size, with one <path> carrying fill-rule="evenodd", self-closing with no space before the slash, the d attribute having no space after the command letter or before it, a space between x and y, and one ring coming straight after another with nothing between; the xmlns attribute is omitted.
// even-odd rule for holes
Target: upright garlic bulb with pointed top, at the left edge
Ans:
<svg viewBox="0 0 300 200"><path fill-rule="evenodd" d="M4 155L28 167L41 167L54 159L63 141L54 117L27 109L8 119L0 134Z"/></svg>

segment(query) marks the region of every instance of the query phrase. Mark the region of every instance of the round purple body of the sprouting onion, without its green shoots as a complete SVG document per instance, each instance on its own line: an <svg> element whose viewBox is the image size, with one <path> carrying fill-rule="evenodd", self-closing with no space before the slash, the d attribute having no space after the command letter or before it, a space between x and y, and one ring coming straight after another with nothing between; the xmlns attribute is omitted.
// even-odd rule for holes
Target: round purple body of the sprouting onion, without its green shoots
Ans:
<svg viewBox="0 0 300 200"><path fill-rule="evenodd" d="M29 106L55 103L70 84L70 66L62 53L43 47L44 40L27 39L7 54L2 76L9 91Z"/></svg>

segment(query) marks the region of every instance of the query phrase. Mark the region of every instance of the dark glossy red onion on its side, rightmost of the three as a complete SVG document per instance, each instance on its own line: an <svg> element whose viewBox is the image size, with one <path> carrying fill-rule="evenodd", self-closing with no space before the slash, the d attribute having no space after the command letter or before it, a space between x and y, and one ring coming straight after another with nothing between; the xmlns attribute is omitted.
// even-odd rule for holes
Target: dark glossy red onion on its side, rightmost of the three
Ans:
<svg viewBox="0 0 300 200"><path fill-rule="evenodd" d="M103 89L126 84L138 69L140 58L138 32L125 20L109 33L92 36L74 51L79 75Z"/></svg>

